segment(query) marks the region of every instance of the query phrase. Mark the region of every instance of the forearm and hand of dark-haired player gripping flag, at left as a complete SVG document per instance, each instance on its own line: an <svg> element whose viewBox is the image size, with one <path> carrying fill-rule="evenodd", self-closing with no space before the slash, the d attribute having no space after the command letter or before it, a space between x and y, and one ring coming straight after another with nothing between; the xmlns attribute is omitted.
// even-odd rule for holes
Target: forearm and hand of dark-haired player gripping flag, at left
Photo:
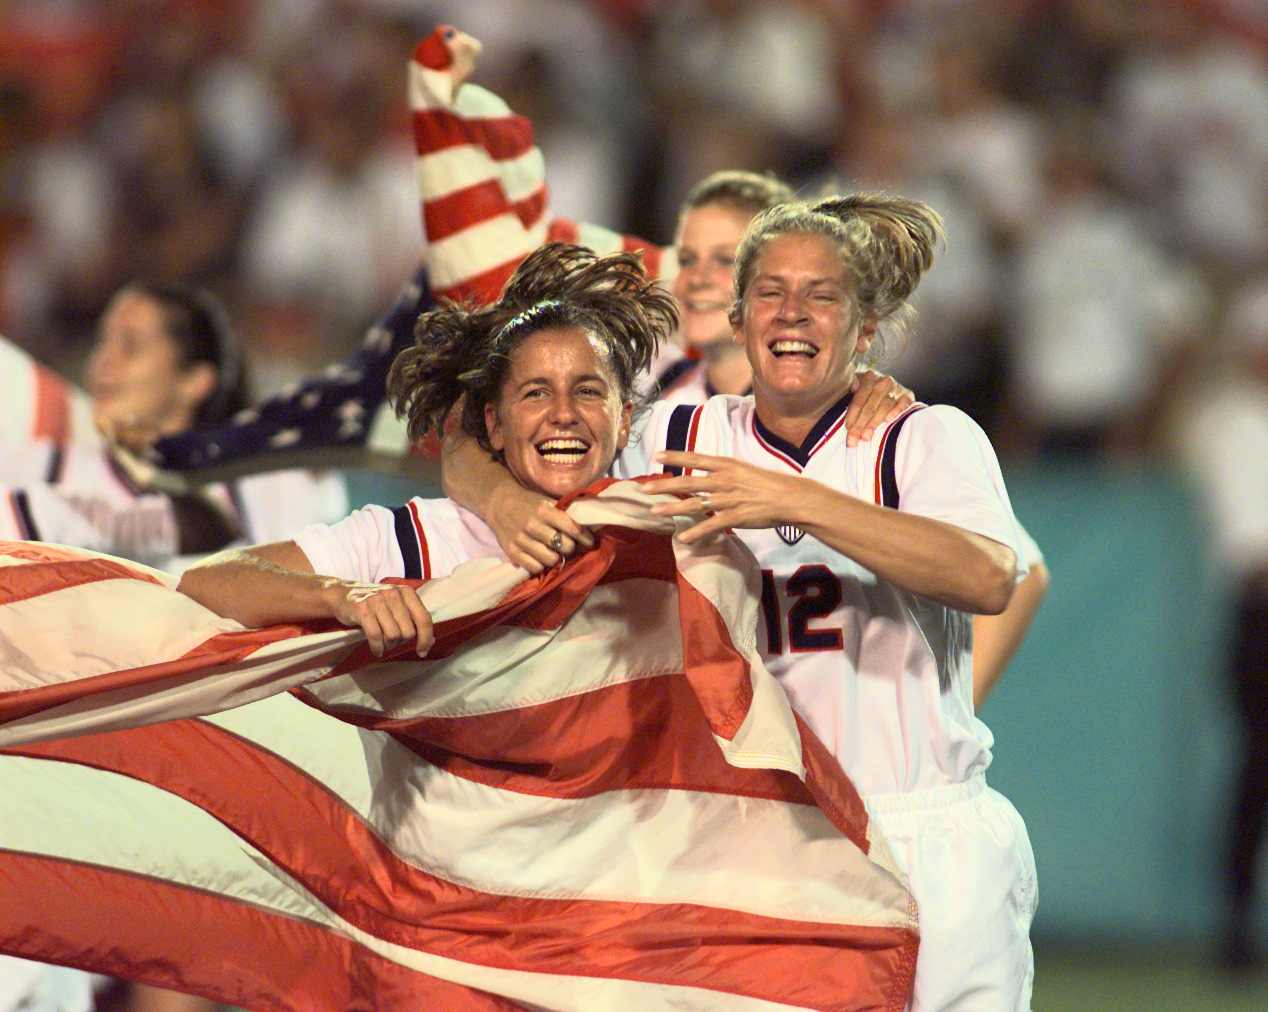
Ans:
<svg viewBox="0 0 1268 1012"><path fill-rule="evenodd" d="M378 657L411 640L422 657L432 643L431 615L412 587L318 576L294 542L222 552L186 569L176 588L254 629L312 619L358 626Z"/></svg>

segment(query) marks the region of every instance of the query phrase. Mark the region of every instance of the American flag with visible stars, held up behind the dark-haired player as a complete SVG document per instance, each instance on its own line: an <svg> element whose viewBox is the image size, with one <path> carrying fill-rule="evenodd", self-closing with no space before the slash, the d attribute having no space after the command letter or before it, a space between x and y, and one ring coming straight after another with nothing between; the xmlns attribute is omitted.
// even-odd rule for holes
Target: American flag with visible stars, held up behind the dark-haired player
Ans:
<svg viewBox="0 0 1268 1012"><path fill-rule="evenodd" d="M230 424L161 440L152 463L158 487L226 481L285 467L355 465L407 470L439 481L439 444L411 446L387 403L384 382L434 301L488 303L533 250L548 240L596 252L638 250L653 276L672 257L645 240L552 218L545 165L533 124L473 84L456 91L440 29L417 44L408 66L426 256L396 304L344 363L269 398Z"/></svg>

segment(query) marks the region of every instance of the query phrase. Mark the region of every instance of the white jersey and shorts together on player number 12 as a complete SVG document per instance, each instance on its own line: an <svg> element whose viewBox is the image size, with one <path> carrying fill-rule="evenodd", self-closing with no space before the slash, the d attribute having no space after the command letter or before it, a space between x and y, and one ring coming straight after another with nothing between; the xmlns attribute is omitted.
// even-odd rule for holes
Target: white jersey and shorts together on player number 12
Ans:
<svg viewBox="0 0 1268 1012"><path fill-rule="evenodd" d="M623 476L656 469L652 453L666 445L673 408L653 407L642 439L619 462ZM841 420L825 417L803 467L761 438L751 398L714 397L701 411L696 451L800 473L877 501L876 463L889 426L851 448ZM980 427L956 408L922 408L907 417L895 449L899 509L1008 545L1021 580L1038 549L1028 538L1023 548ZM735 534L779 597L777 656L770 630L758 630L766 666L903 853L895 860L922 923L913 1012L1028 1009L1033 855L1021 817L983 779L994 738L973 709L971 616L907 594L810 536L789 545L775 530ZM838 590L831 613L804 621L798 651L790 633L795 609L827 611L817 602ZM923 809L927 815L912 814Z"/></svg>

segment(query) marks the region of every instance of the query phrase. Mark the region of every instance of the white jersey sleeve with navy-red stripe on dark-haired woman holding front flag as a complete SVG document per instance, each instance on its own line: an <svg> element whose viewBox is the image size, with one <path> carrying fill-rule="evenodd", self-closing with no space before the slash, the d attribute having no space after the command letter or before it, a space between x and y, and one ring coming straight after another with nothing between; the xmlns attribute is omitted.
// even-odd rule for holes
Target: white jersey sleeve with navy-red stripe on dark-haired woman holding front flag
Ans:
<svg viewBox="0 0 1268 1012"><path fill-rule="evenodd" d="M503 555L488 525L448 498L364 506L337 524L306 528L295 544L314 572L363 583L435 580L469 559Z"/></svg>

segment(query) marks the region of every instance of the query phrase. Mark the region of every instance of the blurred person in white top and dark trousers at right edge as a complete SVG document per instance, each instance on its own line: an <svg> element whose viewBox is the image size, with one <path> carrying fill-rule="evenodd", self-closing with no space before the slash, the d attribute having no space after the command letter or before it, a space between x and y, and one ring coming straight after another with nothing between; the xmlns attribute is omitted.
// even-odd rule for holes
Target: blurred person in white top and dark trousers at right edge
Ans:
<svg viewBox="0 0 1268 1012"><path fill-rule="evenodd" d="M1211 555L1231 605L1231 695L1241 732L1225 855L1220 956L1262 965L1255 885L1268 818L1268 278L1240 289L1221 335L1222 368L1179 420L1179 450L1205 506Z"/></svg>

